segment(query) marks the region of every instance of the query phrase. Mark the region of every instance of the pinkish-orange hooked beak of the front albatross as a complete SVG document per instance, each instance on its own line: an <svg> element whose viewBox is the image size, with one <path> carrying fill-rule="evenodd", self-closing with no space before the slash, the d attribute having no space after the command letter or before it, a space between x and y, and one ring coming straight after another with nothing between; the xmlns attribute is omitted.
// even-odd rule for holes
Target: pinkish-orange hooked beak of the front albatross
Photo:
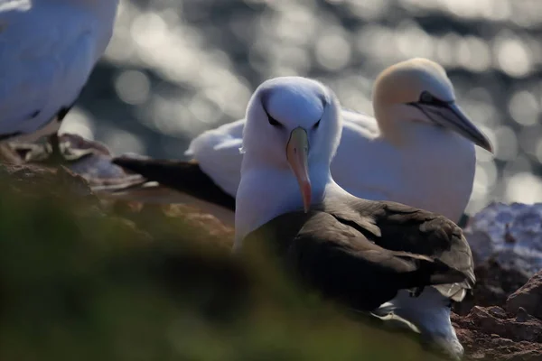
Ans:
<svg viewBox="0 0 542 361"><path fill-rule="evenodd" d="M290 168L294 171L295 178L299 183L301 196L303 197L304 211L307 213L311 207L311 180L309 179L309 167L307 158L309 156L309 140L304 128L298 126L290 134L286 145L286 159Z"/></svg>

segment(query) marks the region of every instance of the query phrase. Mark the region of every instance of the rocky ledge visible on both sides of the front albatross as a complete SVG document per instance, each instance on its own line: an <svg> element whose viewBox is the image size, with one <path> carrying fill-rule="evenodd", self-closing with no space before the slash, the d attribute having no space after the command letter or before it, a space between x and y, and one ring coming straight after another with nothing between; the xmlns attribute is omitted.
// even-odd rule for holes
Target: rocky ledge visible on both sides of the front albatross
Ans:
<svg viewBox="0 0 542 361"><path fill-rule="evenodd" d="M0 178L23 185L59 184L99 208L109 208L132 227L159 216L201 228L214 245L230 247L233 230L188 205L149 204L130 199L98 199L92 189L132 187L145 180L108 162L101 144L66 134L63 140L90 154L58 170L35 165L3 165ZM77 174L76 174L77 172ZM26 188L27 189L27 188ZM42 189L42 188L36 188ZM107 189L107 187L106 187ZM146 222L148 226L149 222ZM159 226L148 226L159 227ZM147 227L147 228L148 228ZM472 360L542 360L542 205L492 204L464 229L477 264L473 295L454 306L453 325Z"/></svg>

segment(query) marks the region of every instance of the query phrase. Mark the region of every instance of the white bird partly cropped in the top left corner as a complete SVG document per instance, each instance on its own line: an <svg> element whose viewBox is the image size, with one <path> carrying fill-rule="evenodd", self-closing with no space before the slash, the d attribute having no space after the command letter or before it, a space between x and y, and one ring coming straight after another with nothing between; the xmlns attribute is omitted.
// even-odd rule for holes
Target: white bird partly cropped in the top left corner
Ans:
<svg viewBox="0 0 542 361"><path fill-rule="evenodd" d="M113 32L118 0L0 0L0 141L57 131Z"/></svg>

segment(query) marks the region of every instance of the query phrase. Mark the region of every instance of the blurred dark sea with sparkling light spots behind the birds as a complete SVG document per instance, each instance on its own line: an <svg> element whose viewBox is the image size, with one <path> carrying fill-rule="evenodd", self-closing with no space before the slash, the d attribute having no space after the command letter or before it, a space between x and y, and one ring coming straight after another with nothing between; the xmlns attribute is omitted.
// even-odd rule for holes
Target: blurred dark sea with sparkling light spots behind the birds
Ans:
<svg viewBox="0 0 542 361"><path fill-rule="evenodd" d="M114 153L185 159L192 137L241 118L265 79L320 79L372 114L378 72L441 63L488 134L468 212L542 200L540 0L122 0L113 39L63 131Z"/></svg>

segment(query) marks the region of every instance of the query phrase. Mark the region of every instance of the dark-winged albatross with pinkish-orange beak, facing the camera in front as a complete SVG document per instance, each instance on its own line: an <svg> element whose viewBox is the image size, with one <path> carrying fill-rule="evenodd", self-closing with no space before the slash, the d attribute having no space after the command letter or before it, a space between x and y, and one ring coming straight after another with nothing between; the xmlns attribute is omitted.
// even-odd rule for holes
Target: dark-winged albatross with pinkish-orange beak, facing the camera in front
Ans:
<svg viewBox="0 0 542 361"><path fill-rule="evenodd" d="M324 296L355 310L393 313L461 357L450 307L475 282L461 228L430 211L360 199L333 180L341 111L321 83L267 80L246 118L234 250L266 238L286 269Z"/></svg>

